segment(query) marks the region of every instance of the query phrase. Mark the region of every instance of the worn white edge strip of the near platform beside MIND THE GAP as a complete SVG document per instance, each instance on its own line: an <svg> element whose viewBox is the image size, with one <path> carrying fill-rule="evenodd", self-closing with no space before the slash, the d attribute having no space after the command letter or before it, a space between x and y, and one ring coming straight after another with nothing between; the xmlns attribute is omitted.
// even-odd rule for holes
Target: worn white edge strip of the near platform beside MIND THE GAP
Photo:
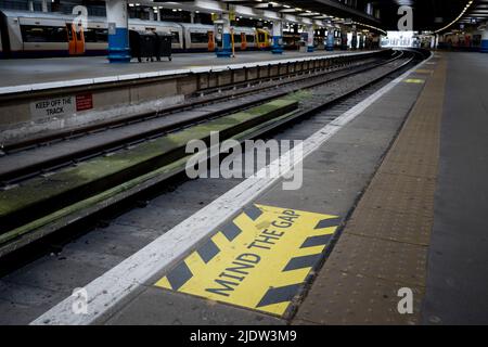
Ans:
<svg viewBox="0 0 488 347"><path fill-rule="evenodd" d="M323 145L345 125L360 115L372 103L401 82L414 69L429 61L432 56L433 55L384 86L305 140L304 159L319 146ZM275 162L270 165L274 164ZM282 176L285 174L286 172L283 172ZM237 214L243 206L252 203L264 190L281 179L281 177L257 178L257 176L258 175L255 175L246 179L141 250L86 285L85 288L88 293L89 305L87 314L73 313L72 307L75 303L75 298L70 296L38 317L30 324L84 325L93 323L104 312L112 309L119 300L140 285L144 284L157 272L163 271L166 267L181 259L194 248L197 243L208 236L213 230L229 220Z"/></svg>

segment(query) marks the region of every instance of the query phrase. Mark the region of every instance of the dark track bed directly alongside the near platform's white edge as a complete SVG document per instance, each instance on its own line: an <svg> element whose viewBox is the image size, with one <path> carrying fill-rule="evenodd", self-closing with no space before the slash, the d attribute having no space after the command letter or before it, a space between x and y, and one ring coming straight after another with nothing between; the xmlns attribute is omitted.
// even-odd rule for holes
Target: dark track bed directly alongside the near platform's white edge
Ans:
<svg viewBox="0 0 488 347"><path fill-rule="evenodd" d="M356 78L349 76L348 81L316 88L314 97L307 100L308 106L299 104L287 121L262 128L255 137L305 139L415 63L406 64L408 61L404 57L396 66L383 66ZM334 99L331 90L337 92L335 97L345 97L330 103ZM92 215L92 219L72 223L67 233L47 235L40 243L10 254L2 262L7 275L0 279L0 308L5 312L2 323L30 322L69 296L74 287L91 282L240 182L175 176L131 195L113 209Z"/></svg>

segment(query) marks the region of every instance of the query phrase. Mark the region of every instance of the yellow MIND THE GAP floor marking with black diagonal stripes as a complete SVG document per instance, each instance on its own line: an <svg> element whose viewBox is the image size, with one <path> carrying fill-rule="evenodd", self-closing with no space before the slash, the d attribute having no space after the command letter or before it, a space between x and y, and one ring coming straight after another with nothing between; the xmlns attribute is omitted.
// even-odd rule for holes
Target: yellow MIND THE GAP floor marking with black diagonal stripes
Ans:
<svg viewBox="0 0 488 347"><path fill-rule="evenodd" d="M283 316L339 223L336 216L253 205L155 285Z"/></svg>

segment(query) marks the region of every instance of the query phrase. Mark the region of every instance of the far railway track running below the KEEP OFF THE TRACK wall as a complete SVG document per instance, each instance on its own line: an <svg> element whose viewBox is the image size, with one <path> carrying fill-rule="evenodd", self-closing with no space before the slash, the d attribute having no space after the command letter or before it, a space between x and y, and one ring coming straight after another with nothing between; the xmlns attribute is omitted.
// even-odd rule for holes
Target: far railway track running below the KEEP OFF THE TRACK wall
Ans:
<svg viewBox="0 0 488 347"><path fill-rule="evenodd" d="M200 98L191 98L183 104L158 113L114 119L74 131L5 144L2 149L1 160L4 165L0 167L0 188L5 189L35 176L158 138L198 121L243 111L296 90L358 74L388 61L384 57L361 62L347 60L345 63L331 65L326 70L306 76L290 73L280 76L278 80L271 78L251 81L251 85L246 82L207 88L196 93ZM247 85L249 88L243 89ZM203 94L206 97L202 97ZM202 110L206 111L201 112ZM110 137L105 136L108 131ZM66 142L76 144L65 145Z"/></svg>

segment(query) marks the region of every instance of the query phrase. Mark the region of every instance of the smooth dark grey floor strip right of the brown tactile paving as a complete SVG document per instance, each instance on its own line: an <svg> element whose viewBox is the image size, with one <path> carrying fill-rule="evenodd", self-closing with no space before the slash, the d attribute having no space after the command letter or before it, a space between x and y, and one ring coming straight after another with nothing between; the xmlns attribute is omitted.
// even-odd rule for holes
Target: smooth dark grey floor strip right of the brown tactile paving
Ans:
<svg viewBox="0 0 488 347"><path fill-rule="evenodd" d="M488 56L448 53L423 322L488 324Z"/></svg>

